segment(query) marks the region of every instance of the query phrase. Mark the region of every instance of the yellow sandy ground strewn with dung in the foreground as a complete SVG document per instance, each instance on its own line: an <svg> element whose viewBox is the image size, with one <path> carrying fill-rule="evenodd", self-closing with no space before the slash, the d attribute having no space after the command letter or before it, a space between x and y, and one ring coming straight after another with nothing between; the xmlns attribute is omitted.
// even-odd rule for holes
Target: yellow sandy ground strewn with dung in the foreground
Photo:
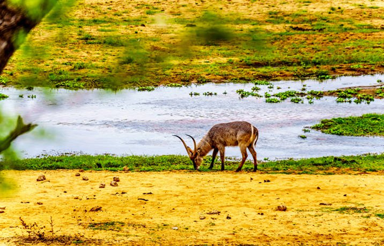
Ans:
<svg viewBox="0 0 384 246"><path fill-rule="evenodd" d="M77 171L3 171L17 189L1 193L0 245L46 244L19 217L78 245L384 245L381 175Z"/></svg>

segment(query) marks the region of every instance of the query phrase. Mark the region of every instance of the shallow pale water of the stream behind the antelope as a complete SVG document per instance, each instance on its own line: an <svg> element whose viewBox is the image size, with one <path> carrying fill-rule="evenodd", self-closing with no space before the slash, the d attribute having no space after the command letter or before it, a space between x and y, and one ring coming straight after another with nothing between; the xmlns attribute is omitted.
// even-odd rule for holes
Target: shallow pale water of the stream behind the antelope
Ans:
<svg viewBox="0 0 384 246"><path fill-rule="evenodd" d="M259 94L300 90L335 90L349 86L377 84L383 76L340 77L319 82L274 82ZM183 88L160 87L153 92L123 90L120 92L52 90L32 92L1 88L9 95L0 101L8 115L22 115L25 122L37 123L35 133L20 136L15 146L26 157L40 154L186 154L179 139L184 136L189 145L190 134L200 139L216 123L248 121L259 130L256 152L262 158L301 158L324 155L350 155L382 153L384 138L333 136L311 130L305 126L321 119L382 113L384 100L371 104L336 103L334 97L314 100L314 104L296 104L287 99L282 103L265 103L265 98L239 98L236 90L251 91L253 84L205 84ZM278 90L277 87L282 89ZM203 92L217 92L204 96ZM199 92L200 96L189 95ZM227 92L227 94L223 94ZM20 98L19 94L24 94ZM36 98L28 98L34 94ZM39 132L44 130L44 137ZM299 135L306 135L302 139ZM240 156L238 147L226 148L227 156ZM250 157L249 157L250 158ZM251 157L252 158L252 157Z"/></svg>

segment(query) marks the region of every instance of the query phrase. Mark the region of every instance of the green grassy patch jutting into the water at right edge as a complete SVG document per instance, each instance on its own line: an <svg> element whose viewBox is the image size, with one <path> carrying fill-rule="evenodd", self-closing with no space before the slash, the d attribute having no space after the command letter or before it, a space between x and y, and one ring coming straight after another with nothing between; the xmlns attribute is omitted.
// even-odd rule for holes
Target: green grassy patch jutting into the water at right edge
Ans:
<svg viewBox="0 0 384 246"><path fill-rule="evenodd" d="M384 137L384 115L365 114L359 117L325 119L311 128L323 133L343 136Z"/></svg>

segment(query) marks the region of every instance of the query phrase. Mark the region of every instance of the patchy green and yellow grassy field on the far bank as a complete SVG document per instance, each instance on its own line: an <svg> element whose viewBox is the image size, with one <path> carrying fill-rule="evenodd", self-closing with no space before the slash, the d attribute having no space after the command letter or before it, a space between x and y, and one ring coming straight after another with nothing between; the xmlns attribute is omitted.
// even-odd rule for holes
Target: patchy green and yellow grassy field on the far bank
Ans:
<svg viewBox="0 0 384 246"><path fill-rule="evenodd" d="M43 21L0 84L127 88L384 71L380 0L79 0Z"/></svg>

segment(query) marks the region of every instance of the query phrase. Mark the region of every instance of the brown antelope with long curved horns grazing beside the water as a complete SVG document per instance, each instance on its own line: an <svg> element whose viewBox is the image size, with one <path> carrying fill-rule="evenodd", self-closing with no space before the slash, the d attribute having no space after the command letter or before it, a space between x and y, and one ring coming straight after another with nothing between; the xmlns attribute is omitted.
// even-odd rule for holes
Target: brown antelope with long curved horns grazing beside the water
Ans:
<svg viewBox="0 0 384 246"><path fill-rule="evenodd" d="M203 161L203 157L208 154L213 149L212 153L212 162L209 166L211 170L213 168L213 163L218 152L220 152L220 158L222 161L222 171L224 170L224 149L225 146L239 146L242 154L242 160L239 167L236 169L236 172L239 172L244 165L245 160L247 159L247 148L251 152L252 157L254 158L254 172L257 170L257 159L256 151L254 146L258 138L258 130L255 126L248 122L229 122L215 124L208 131L207 134L200 140L196 145L196 141L191 135L186 134L192 138L194 149L192 150L187 146L185 141L177 136L183 143L187 154L192 160L193 167L195 170L199 170L200 165Z"/></svg>

